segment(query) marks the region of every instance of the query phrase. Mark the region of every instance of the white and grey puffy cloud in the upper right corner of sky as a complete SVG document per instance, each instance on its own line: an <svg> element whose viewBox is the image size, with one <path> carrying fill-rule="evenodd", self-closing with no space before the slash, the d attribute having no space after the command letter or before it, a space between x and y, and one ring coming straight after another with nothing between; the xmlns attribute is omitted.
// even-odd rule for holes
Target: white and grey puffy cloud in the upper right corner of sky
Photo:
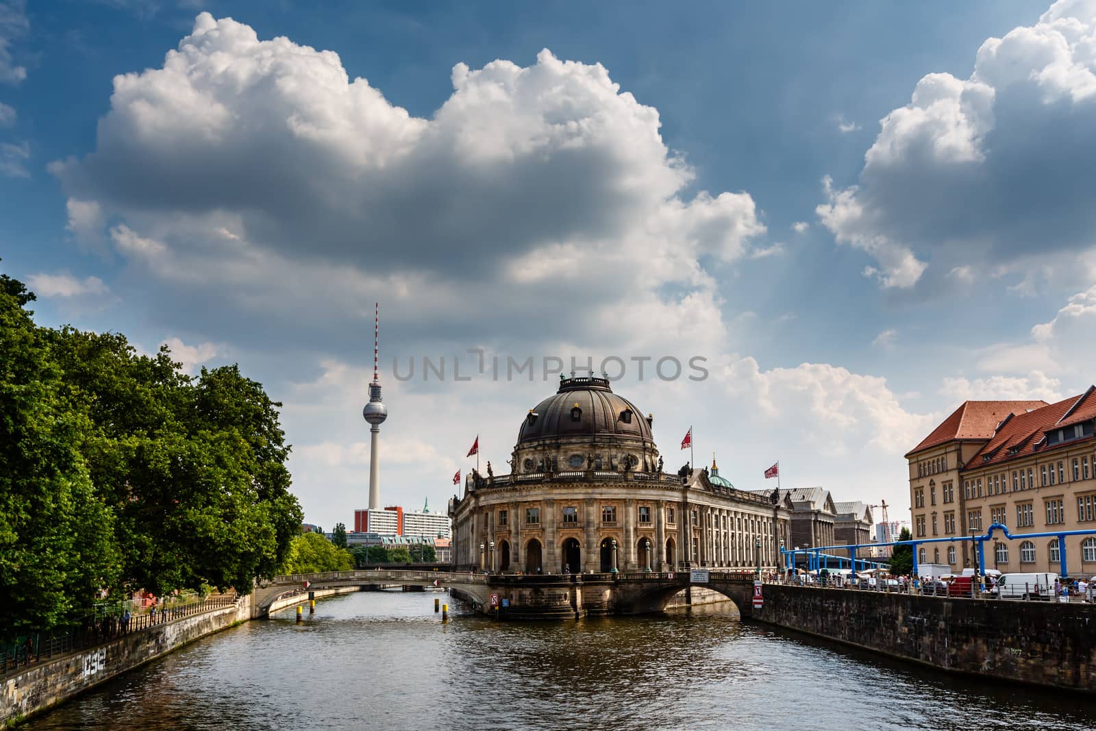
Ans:
<svg viewBox="0 0 1096 731"><path fill-rule="evenodd" d="M929 262L939 279L1071 264L1096 245L1093 48L1096 4L1060 0L986 39L969 77L926 75L880 122L858 184L827 182L820 221L883 287L913 287Z"/></svg>

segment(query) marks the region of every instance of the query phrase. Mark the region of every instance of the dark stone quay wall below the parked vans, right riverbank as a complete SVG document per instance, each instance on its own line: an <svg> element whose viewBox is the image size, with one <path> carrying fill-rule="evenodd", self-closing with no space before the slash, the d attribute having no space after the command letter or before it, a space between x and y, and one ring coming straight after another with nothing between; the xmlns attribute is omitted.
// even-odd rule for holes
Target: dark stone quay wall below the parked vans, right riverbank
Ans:
<svg viewBox="0 0 1096 731"><path fill-rule="evenodd" d="M753 619L933 667L1096 692L1096 605L766 584Z"/></svg>

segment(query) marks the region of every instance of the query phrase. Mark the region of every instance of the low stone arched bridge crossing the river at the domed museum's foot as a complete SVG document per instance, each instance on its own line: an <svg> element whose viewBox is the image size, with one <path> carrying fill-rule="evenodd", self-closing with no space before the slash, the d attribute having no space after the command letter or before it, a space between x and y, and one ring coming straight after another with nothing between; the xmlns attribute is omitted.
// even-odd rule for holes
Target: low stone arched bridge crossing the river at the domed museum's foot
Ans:
<svg viewBox="0 0 1096 731"><path fill-rule="evenodd" d="M333 571L276 576L255 587L253 616L265 616L278 598L343 586L441 586L453 596L490 614L492 595L501 617L511 619L576 618L662 612L675 594L690 586L711 589L730 598L743 617L751 616L752 571L709 571L708 581L692 583L686 572L629 572L555 575L489 575L430 569Z"/></svg>

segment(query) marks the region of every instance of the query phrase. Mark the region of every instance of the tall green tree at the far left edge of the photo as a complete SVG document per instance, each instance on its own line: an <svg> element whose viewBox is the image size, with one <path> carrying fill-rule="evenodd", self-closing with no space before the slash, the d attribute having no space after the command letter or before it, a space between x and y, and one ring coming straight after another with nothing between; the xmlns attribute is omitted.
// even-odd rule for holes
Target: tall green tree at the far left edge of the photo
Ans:
<svg viewBox="0 0 1096 731"><path fill-rule="evenodd" d="M64 373L25 306L0 275L0 603L4 629L52 629L85 615L119 575L111 511L95 494L80 445L92 430L66 398Z"/></svg>

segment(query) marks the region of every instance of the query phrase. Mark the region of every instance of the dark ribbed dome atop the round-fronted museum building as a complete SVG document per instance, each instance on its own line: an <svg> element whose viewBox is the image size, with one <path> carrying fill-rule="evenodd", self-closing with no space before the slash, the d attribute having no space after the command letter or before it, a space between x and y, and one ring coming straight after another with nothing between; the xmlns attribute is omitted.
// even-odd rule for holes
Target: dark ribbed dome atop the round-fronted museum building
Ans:
<svg viewBox="0 0 1096 731"><path fill-rule="evenodd" d="M559 391L526 414L517 432L517 446L596 435L653 443L647 416L631 401L614 393L607 378L572 377L560 380Z"/></svg>

